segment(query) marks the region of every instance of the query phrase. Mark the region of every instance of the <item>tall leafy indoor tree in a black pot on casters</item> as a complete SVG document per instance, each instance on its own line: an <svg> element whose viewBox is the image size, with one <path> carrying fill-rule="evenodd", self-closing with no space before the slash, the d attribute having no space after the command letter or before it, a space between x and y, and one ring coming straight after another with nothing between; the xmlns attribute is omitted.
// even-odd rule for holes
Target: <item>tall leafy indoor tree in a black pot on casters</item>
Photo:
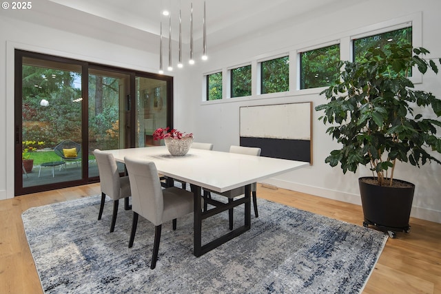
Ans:
<svg viewBox="0 0 441 294"><path fill-rule="evenodd" d="M415 186L393 178L396 162L420 167L438 162L441 153L441 100L431 93L415 90L409 75L417 70L438 73L435 61L424 59L424 48L388 44L370 48L358 62L341 61L339 79L321 94L326 104L319 120L329 124L327 134L341 144L325 162L343 173L356 172L359 165L372 171L359 178L364 213L363 225L373 224L388 231L409 232L409 217ZM439 60L441 63L441 59Z"/></svg>

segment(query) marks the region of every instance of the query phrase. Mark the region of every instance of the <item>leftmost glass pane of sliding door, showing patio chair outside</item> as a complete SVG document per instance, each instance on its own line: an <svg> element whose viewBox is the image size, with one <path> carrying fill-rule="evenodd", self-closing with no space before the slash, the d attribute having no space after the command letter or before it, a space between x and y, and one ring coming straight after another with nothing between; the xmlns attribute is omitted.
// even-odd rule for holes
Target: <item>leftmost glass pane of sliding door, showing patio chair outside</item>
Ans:
<svg viewBox="0 0 441 294"><path fill-rule="evenodd" d="M81 180L81 149L72 151L72 160L63 160L54 148L64 140L72 142L64 149L82 144L82 65L28 56L21 61L21 123L16 130L21 158L16 169L22 187Z"/></svg>

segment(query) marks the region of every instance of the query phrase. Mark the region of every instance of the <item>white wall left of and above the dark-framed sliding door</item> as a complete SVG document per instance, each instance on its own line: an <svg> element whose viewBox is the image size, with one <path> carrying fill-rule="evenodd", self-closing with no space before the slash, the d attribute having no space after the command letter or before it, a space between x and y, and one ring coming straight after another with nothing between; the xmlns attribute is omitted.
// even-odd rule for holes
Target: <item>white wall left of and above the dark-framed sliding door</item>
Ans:
<svg viewBox="0 0 441 294"><path fill-rule="evenodd" d="M54 26L57 27L56 22ZM14 197L14 49L157 72L157 54L121 45L121 39L115 34L110 34L108 39L110 41L103 41L20 21L3 11L0 17L0 200ZM125 41L130 43L127 37Z"/></svg>

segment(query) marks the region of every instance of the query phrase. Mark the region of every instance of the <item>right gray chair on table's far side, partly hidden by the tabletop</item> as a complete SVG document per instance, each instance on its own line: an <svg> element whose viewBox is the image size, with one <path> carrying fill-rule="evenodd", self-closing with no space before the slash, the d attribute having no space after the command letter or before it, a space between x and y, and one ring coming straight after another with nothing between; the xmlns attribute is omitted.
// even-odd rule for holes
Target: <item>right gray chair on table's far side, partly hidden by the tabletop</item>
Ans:
<svg viewBox="0 0 441 294"><path fill-rule="evenodd" d="M237 153L237 154L247 154L247 155L253 155L253 156L260 156L260 151L261 151L261 149L258 147L243 147L243 146L235 146L235 145L232 145L229 147L230 153ZM257 183L254 182L251 185L251 192L252 192L252 198L253 198L253 204L254 204L254 216L256 216L256 218L258 218L259 214L258 214L258 210L257 210L256 190L257 190ZM233 198L245 194L245 187L238 187L236 189L225 191L223 193L214 192L214 191L204 189L204 198L211 198L212 192L216 193L218 195L225 196L228 198L228 202L232 202ZM206 206L204 208L206 209ZM233 229L233 209L229 209L229 229L230 230Z"/></svg>

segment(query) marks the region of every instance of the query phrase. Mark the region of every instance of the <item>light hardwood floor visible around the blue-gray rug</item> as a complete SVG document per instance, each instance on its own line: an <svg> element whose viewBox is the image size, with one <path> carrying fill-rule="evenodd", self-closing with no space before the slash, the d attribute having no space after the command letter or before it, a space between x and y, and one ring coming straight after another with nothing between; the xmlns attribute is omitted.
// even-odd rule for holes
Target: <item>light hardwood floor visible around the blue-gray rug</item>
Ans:
<svg viewBox="0 0 441 294"><path fill-rule="evenodd" d="M362 225L358 205L258 186L258 198ZM0 293L42 293L21 213L30 207L99 193L99 184L92 184L0 201ZM389 238L363 293L441 293L441 224L416 218L410 224L411 233Z"/></svg>

